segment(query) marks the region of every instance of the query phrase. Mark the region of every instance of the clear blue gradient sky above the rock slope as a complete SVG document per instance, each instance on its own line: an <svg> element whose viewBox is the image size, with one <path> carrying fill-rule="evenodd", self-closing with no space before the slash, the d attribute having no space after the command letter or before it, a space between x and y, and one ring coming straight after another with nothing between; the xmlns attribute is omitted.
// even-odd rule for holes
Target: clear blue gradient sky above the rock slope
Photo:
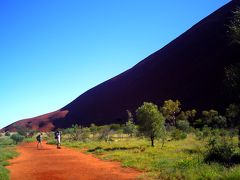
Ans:
<svg viewBox="0 0 240 180"><path fill-rule="evenodd" d="M0 128L55 111L229 0L0 0Z"/></svg>

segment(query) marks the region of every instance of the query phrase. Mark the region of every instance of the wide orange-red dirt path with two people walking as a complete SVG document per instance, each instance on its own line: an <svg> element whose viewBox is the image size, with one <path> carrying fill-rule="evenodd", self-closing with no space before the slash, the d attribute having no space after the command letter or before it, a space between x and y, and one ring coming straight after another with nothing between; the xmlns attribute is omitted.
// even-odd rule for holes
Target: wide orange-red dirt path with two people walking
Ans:
<svg viewBox="0 0 240 180"><path fill-rule="evenodd" d="M136 179L139 172L122 168L117 162L106 162L77 150L43 143L25 143L17 148L20 156L11 160L11 180L86 180Z"/></svg>

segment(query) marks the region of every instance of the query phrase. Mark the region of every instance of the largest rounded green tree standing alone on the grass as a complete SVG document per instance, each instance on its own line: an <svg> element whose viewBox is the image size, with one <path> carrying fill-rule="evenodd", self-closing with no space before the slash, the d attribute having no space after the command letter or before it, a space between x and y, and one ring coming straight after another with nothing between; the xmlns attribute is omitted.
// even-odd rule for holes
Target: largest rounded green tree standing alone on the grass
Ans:
<svg viewBox="0 0 240 180"><path fill-rule="evenodd" d="M164 143L166 137L165 118L158 110L157 105L149 102L144 102L136 110L137 120L139 122L139 131L145 136L150 137L152 146L154 146L155 138L161 138Z"/></svg>

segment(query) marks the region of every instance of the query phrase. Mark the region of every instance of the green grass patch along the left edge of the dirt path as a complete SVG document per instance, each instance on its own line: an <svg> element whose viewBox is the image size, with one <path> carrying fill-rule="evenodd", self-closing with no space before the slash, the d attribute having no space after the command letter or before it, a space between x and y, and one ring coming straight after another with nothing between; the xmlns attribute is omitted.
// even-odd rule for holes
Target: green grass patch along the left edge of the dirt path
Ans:
<svg viewBox="0 0 240 180"><path fill-rule="evenodd" d="M8 180L9 172L5 166L9 165L7 160L16 157L18 153L16 152L14 142L9 137L0 138L0 179Z"/></svg>

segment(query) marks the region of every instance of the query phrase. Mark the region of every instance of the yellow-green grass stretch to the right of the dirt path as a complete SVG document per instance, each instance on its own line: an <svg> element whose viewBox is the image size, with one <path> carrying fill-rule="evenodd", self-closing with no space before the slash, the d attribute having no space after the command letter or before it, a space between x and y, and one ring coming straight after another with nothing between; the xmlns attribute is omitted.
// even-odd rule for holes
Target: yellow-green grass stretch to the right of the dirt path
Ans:
<svg viewBox="0 0 240 180"><path fill-rule="evenodd" d="M82 149L86 153L111 161L120 161L124 167L144 172L143 179L240 179L240 166L226 168L203 161L205 144L188 135L184 140L170 141L161 149L161 143L150 146L147 139L124 138L118 141L63 142L64 146Z"/></svg>

